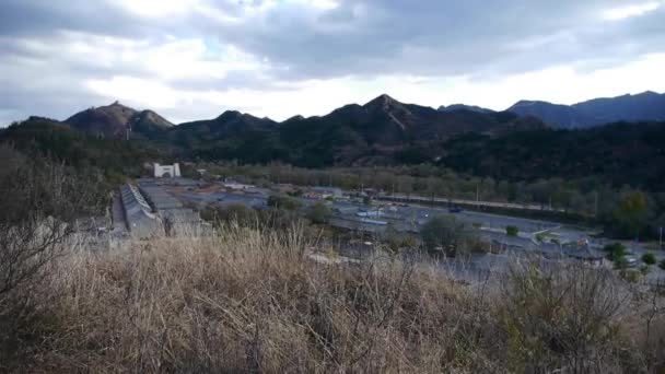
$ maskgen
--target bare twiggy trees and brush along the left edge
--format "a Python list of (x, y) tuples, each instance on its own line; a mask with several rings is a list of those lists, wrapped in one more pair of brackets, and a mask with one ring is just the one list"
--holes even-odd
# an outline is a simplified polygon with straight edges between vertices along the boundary
[(0, 145), (0, 328), (28, 306), (31, 284), (61, 254), (75, 220), (97, 210), (100, 180)]

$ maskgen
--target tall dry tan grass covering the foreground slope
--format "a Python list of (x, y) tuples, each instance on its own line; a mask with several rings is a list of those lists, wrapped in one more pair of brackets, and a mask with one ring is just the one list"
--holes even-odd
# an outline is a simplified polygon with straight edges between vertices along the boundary
[[(504, 288), (470, 288), (435, 267), (318, 265), (307, 259), (307, 245), (299, 229), (229, 227), (208, 238), (71, 250), (32, 290), (24, 354), (4, 369), (656, 372), (662, 359), (663, 341), (652, 343), (655, 353), (642, 353), (643, 318), (625, 301), (609, 314), (599, 311), (609, 305), (605, 299), (585, 301), (590, 291), (604, 292), (599, 283), (592, 290), (573, 277), (548, 283), (527, 271)], [(664, 323), (658, 315), (652, 326)], [(595, 335), (581, 339), (579, 326)]]

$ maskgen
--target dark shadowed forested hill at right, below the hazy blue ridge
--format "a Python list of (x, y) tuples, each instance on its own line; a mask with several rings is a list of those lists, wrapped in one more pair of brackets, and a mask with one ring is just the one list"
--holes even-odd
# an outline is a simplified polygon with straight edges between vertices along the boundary
[(538, 129), (442, 144), (440, 164), (497, 179), (595, 177), (616, 186), (665, 189), (665, 122), (620, 122), (586, 130)]

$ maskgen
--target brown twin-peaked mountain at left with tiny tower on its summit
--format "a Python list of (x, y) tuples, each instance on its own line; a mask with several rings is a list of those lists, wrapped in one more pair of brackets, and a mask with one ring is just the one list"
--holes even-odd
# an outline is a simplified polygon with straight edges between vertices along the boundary
[(105, 138), (153, 138), (173, 127), (152, 110), (138, 112), (119, 103), (90, 108), (65, 120), (77, 130)]

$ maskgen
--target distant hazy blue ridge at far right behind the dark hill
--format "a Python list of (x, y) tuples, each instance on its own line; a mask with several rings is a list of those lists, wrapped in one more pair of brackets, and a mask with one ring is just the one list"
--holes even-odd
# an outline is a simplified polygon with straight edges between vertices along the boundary
[(644, 92), (638, 95), (594, 98), (574, 105), (521, 101), (509, 112), (535, 116), (555, 128), (587, 128), (617, 121), (665, 120), (665, 94)]

